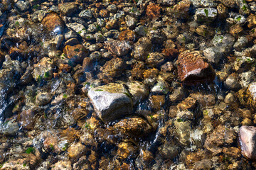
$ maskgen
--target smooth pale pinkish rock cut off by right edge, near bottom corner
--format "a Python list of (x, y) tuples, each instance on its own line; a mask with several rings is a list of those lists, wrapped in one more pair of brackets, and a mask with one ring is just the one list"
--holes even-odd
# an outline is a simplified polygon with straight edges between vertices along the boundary
[(239, 130), (239, 142), (242, 155), (248, 159), (256, 159), (256, 127), (242, 126)]

